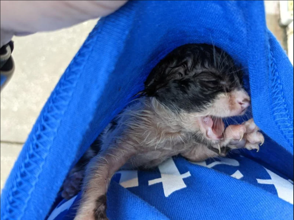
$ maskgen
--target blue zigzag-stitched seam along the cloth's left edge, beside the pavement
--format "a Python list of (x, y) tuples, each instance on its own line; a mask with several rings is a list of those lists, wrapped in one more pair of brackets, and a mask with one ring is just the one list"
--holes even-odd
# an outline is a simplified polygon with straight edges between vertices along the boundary
[[(48, 141), (48, 137), (46, 136), (46, 130), (47, 132), (54, 132), (57, 134), (57, 130), (60, 126), (60, 122), (64, 117), (64, 113), (66, 112), (68, 105), (71, 101), (72, 95), (74, 93), (74, 90), (76, 88), (78, 79), (81, 76), (82, 69), (84, 68), (84, 65), (75, 65), (75, 63), (86, 63), (86, 60), (89, 57), (88, 53), (83, 54), (83, 52), (87, 52), (88, 48), (91, 47), (92, 45), (93, 38), (88, 38), (88, 40), (85, 42), (83, 48), (84, 51), (79, 51), (77, 56), (74, 58), (74, 61), (71, 63), (69, 68), (66, 70), (64, 74), (64, 78), (61, 80), (60, 84), (57, 85), (57, 88), (54, 90), (54, 93), (52, 94), (52, 97), (48, 100), (48, 107), (44, 109), (44, 112), (41, 113), (41, 118), (40, 122), (36, 124), (37, 130), (35, 135), (31, 137), (33, 142), (30, 144), (30, 151), (26, 155), (26, 159), (24, 163), (22, 164), (22, 167), (17, 174), (17, 181), (16, 184), (19, 185), (21, 184), (23, 187), (29, 188), (28, 190), (21, 191), (20, 187), (17, 187), (16, 184), (12, 187), (10, 190), (11, 193), (9, 195), (9, 204), (6, 207), (6, 213), (3, 216), (3, 220), (8, 220), (9, 217), (14, 217), (15, 219), (21, 219), (22, 216), (24, 215), (24, 212), (26, 210), (26, 204), (28, 203), (31, 193), (34, 191), (34, 186), (38, 182), (38, 177), (42, 172), (42, 166), (46, 160), (46, 157), (49, 153), (49, 150), (51, 148), (52, 142), (54, 142), (54, 139), (56, 135), (51, 139), (50, 141), (47, 142), (46, 145), (42, 144), (44, 140)], [(85, 50), (86, 49), (86, 50)], [(72, 66), (78, 66), (79, 68), (76, 68), (75, 70), (72, 70)], [(61, 94), (65, 94), (67, 97), (64, 97)], [(63, 106), (62, 106), (63, 105)], [(58, 109), (56, 108), (58, 107)], [(63, 108), (63, 110), (60, 110), (60, 108)], [(53, 110), (52, 110), (53, 109)], [(56, 119), (56, 112), (59, 113), (59, 117)], [(48, 117), (49, 120), (45, 120), (45, 118)], [(52, 123), (54, 124), (52, 126)], [(45, 129), (44, 129), (45, 128)], [(38, 146), (37, 149), (35, 149), (34, 146)], [(40, 150), (39, 150), (40, 148)], [(41, 152), (40, 152), (41, 151)], [(42, 153), (43, 155), (39, 155)], [(33, 163), (31, 162), (31, 157), (36, 156), (38, 157), (41, 161), (38, 163), (34, 163), (35, 167), (31, 168)], [(31, 168), (31, 169), (30, 169)], [(37, 171), (37, 172), (36, 172)], [(33, 174), (34, 173), (34, 174)], [(34, 181), (27, 181), (25, 178), (35, 178)], [(29, 187), (28, 187), (29, 185)], [(23, 197), (23, 198), (21, 198)], [(11, 204), (12, 203), (18, 203), (22, 204), (22, 210), (20, 210), (20, 206), (17, 206), (17, 209), (14, 208)], [(16, 209), (16, 210), (15, 210)], [(15, 216), (14, 212), (18, 213), (17, 216)], [(20, 213), (19, 213), (20, 212)]]

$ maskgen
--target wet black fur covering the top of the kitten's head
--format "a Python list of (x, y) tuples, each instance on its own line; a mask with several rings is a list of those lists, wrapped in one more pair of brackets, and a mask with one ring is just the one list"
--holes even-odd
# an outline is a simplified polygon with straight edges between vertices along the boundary
[(225, 51), (208, 44), (186, 44), (153, 68), (143, 94), (177, 112), (201, 112), (219, 93), (242, 84), (240, 66)]

